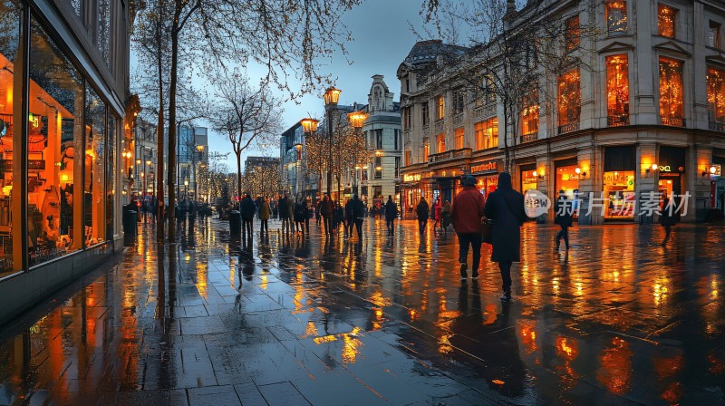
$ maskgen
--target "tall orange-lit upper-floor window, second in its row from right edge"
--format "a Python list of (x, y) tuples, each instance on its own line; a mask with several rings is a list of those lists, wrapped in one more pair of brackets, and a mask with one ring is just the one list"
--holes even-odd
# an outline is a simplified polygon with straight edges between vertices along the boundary
[(682, 63), (665, 57), (660, 57), (660, 116), (662, 125), (685, 125)]

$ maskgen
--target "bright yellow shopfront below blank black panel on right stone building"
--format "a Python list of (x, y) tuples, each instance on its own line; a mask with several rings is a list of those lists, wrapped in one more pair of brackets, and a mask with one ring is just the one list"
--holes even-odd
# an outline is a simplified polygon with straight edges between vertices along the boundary
[(605, 220), (634, 218), (636, 165), (636, 149), (633, 145), (604, 149)]

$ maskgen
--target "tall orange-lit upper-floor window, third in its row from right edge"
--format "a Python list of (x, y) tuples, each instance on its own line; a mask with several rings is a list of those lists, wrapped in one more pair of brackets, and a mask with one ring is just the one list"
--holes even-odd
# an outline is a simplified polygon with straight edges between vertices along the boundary
[(608, 125), (629, 124), (629, 77), (627, 55), (606, 57), (606, 111)]

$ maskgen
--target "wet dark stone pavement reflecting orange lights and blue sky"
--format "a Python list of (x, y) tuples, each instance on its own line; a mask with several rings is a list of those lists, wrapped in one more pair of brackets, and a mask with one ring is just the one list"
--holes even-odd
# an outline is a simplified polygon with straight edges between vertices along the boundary
[[(119, 256), (0, 331), (0, 404), (725, 403), (723, 225), (527, 224), (498, 268), (412, 220), (362, 240), (229, 238), (216, 219)], [(258, 225), (256, 225), (258, 227)], [(258, 228), (257, 228), (258, 229)]]

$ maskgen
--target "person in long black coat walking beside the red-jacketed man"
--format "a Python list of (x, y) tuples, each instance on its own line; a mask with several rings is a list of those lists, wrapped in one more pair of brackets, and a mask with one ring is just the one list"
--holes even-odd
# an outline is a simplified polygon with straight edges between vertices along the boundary
[(491, 227), (491, 262), (498, 262), (504, 294), (501, 300), (511, 300), (511, 264), (521, 260), (521, 226), (527, 218), (524, 195), (511, 186), (511, 174), (498, 174), (498, 189), (488, 195), (486, 217)]

